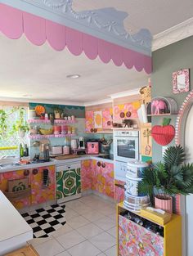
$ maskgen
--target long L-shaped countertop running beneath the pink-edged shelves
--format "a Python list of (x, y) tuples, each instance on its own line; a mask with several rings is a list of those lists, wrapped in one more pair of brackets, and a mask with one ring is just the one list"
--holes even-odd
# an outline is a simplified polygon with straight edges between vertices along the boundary
[(65, 163), (69, 164), (71, 162), (83, 161), (86, 159), (95, 159), (96, 161), (114, 164), (114, 160), (105, 159), (105, 158), (101, 158), (98, 156), (99, 155), (79, 155), (79, 157), (76, 157), (76, 158), (61, 159), (61, 160), (52, 159), (50, 162), (45, 162), (45, 163), (21, 164), (21, 165), (17, 165), (17, 166), (9, 166), (9, 167), (5, 167), (5, 168), (0, 168), (0, 173), (24, 170), (24, 169), (29, 169), (29, 168), (39, 168), (39, 167), (44, 167), (44, 166), (56, 165), (56, 164), (65, 164)]

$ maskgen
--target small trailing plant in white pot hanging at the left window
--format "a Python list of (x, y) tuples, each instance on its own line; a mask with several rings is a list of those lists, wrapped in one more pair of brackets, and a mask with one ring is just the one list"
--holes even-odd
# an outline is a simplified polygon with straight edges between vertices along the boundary
[(18, 132), (19, 137), (25, 137), (25, 132), (29, 132), (29, 124), (25, 120), (25, 109), (19, 109), (19, 119), (12, 126), (11, 133)]

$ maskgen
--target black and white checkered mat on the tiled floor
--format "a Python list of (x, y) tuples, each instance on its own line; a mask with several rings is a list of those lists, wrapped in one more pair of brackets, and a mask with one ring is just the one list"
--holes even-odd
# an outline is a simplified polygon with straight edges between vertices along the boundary
[(32, 227), (34, 238), (51, 236), (54, 231), (65, 225), (65, 205), (53, 204), (21, 215)]

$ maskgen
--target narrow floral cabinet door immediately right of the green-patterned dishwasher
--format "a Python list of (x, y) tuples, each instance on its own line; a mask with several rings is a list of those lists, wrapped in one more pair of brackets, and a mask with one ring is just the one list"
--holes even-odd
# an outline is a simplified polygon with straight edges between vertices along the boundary
[(83, 160), (81, 162), (81, 187), (82, 191), (88, 191), (92, 189), (92, 170), (91, 170), (92, 160)]

